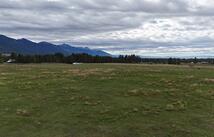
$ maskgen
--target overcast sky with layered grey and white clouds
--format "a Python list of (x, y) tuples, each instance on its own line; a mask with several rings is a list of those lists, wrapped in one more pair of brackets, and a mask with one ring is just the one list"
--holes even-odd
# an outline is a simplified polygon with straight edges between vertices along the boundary
[(214, 56), (214, 0), (1, 0), (0, 34), (113, 55)]

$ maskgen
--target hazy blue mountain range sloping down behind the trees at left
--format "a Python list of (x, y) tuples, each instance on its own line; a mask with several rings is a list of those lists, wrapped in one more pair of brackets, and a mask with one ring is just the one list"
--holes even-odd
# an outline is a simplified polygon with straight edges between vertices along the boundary
[(26, 55), (44, 55), (63, 53), (64, 55), (86, 53), (89, 55), (111, 56), (110, 54), (89, 48), (73, 47), (68, 44), (55, 45), (48, 42), (35, 43), (28, 39), (13, 39), (0, 35), (0, 53), (17, 53)]

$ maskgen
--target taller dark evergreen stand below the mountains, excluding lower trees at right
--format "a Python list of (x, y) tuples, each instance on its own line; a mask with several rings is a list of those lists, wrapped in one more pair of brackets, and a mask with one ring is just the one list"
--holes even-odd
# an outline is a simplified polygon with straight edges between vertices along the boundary
[[(7, 60), (14, 60), (14, 63), (140, 63), (141, 58), (136, 55), (125, 55), (119, 57), (92, 56), (88, 54), (72, 54), (64, 56), (61, 53), (53, 55), (22, 55), (12, 53)], [(4, 59), (5, 60), (5, 59)]]

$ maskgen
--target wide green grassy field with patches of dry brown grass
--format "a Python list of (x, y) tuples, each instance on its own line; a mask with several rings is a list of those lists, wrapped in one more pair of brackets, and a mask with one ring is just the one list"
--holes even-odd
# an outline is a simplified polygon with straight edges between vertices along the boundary
[(0, 65), (0, 137), (214, 137), (214, 67)]

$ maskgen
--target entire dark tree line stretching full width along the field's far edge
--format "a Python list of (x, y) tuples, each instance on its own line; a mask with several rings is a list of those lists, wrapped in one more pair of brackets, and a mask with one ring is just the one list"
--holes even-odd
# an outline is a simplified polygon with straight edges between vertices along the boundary
[(22, 55), (12, 53), (10, 56), (0, 54), (0, 63), (13, 60), (14, 63), (147, 63), (147, 64), (181, 64), (181, 63), (204, 63), (214, 64), (214, 59), (181, 59), (181, 58), (141, 58), (136, 55), (91, 56), (88, 54), (72, 54), (64, 56), (61, 53), (53, 55)]

